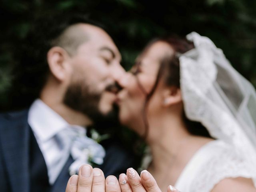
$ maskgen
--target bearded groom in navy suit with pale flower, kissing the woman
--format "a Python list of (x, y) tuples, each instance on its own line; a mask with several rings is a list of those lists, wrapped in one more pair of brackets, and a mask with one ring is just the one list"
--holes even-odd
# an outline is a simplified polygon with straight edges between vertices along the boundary
[(86, 127), (114, 116), (116, 81), (124, 74), (110, 36), (82, 18), (44, 18), (21, 51), (22, 67), (36, 66), (43, 78), (30, 108), (0, 114), (1, 191), (65, 191), (70, 166), (86, 163), (91, 150), (105, 176), (133, 166), (118, 142), (108, 141), (104, 151), (86, 137)]

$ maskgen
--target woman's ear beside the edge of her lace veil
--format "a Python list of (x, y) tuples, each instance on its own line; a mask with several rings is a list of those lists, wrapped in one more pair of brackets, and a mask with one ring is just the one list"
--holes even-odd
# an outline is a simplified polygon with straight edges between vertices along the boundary
[(182, 102), (182, 95), (180, 88), (177, 87), (170, 87), (166, 88), (163, 93), (163, 106), (164, 107), (169, 107), (174, 104), (178, 104)]

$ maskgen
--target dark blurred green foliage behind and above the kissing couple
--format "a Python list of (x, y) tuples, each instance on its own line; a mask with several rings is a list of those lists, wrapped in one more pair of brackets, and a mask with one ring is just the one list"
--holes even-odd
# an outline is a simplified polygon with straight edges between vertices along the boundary
[(26, 36), (32, 18), (45, 11), (80, 12), (104, 24), (126, 69), (152, 38), (196, 31), (211, 38), (232, 65), (256, 85), (255, 10), (253, 0), (1, 0), (0, 111), (31, 102), (22, 95), (19, 100), (12, 99), (11, 94), (28, 86), (12, 86), (12, 47)]

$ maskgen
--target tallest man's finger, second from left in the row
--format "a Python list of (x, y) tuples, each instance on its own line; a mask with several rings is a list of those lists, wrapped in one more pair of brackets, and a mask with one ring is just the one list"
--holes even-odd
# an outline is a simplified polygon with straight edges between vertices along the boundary
[(78, 172), (77, 192), (91, 192), (92, 190), (92, 166), (82, 165)]

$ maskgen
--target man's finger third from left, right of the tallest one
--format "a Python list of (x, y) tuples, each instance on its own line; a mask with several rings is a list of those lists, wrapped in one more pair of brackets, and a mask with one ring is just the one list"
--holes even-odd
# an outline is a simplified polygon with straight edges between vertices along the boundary
[(94, 168), (93, 180), (92, 180), (92, 192), (102, 192), (105, 191), (105, 177), (102, 170), (99, 168)]

